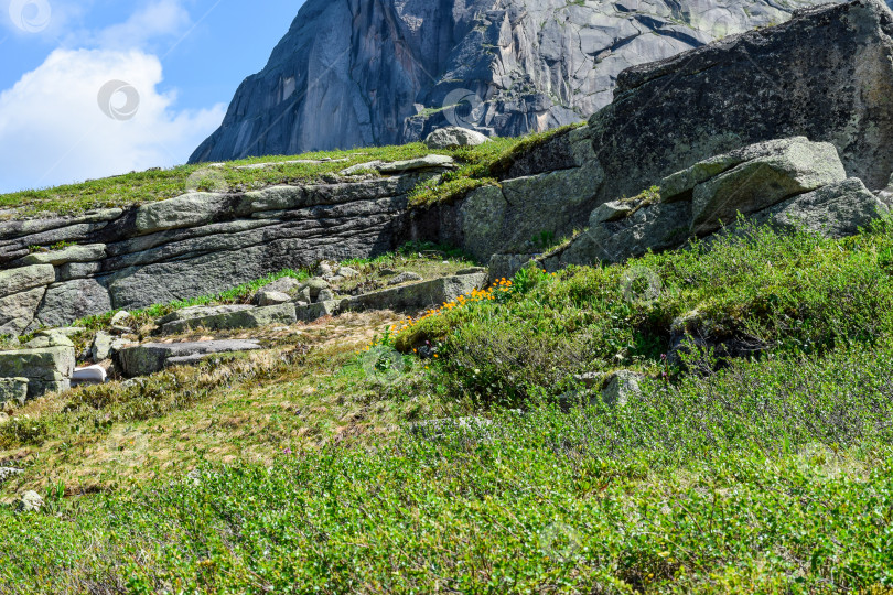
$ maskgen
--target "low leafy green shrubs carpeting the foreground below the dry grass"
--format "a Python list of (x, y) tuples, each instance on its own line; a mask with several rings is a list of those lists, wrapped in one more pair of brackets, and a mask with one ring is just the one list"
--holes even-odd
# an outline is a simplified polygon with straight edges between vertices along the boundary
[[(10, 593), (811, 593), (893, 583), (893, 344), (0, 509)], [(429, 422), (430, 423), (430, 422)]]

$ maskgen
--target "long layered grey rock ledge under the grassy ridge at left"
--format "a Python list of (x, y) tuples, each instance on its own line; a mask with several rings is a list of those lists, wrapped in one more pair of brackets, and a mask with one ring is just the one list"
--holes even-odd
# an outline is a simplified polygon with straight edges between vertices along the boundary
[[(407, 194), (440, 171), (428, 161), (397, 166), (407, 167), (375, 180), (191, 193), (127, 210), (0, 223), (0, 335), (394, 250), (412, 236)], [(104, 248), (45, 252), (55, 256), (29, 264), (44, 255), (32, 247), (60, 241)], [(269, 289), (291, 291), (294, 280), (286, 279)]]

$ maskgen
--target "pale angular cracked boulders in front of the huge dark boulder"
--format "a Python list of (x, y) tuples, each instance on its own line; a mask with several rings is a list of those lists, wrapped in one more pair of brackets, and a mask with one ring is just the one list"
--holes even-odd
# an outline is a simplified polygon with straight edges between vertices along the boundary
[(839, 238), (890, 212), (861, 180), (846, 177), (833, 145), (803, 137), (718, 155), (660, 184), (657, 202), (648, 196), (594, 209), (589, 229), (542, 258), (542, 266), (616, 262), (676, 248), (690, 237), (736, 225), (739, 214), (778, 229), (806, 228)]

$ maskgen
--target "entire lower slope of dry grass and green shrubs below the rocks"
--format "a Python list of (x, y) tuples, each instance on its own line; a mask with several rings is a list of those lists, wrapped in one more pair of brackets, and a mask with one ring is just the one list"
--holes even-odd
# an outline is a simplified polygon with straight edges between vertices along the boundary
[[(889, 221), (745, 228), (32, 403), (3, 489), (50, 506), (0, 508), (0, 585), (887, 592), (891, 273)], [(573, 380), (621, 368), (647, 375), (625, 407)]]

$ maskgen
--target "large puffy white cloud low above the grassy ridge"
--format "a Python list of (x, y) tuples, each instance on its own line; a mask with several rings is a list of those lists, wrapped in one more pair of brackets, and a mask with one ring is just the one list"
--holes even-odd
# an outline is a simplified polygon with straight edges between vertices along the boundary
[[(98, 105), (99, 89), (116, 79), (139, 94), (132, 119), (109, 118)], [(184, 163), (225, 106), (177, 111), (161, 80), (159, 58), (139, 50), (54, 51), (0, 93), (0, 192)], [(123, 100), (118, 94), (112, 105)]]

